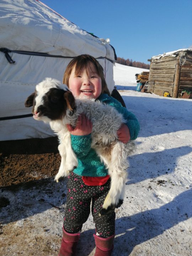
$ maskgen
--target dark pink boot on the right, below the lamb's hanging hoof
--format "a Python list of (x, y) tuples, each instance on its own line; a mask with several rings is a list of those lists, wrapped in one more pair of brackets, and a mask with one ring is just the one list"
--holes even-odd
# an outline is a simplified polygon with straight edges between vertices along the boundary
[(111, 256), (114, 236), (115, 235), (112, 235), (109, 238), (102, 238), (94, 234), (96, 244), (95, 256)]

